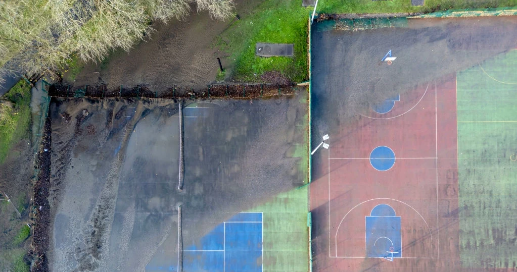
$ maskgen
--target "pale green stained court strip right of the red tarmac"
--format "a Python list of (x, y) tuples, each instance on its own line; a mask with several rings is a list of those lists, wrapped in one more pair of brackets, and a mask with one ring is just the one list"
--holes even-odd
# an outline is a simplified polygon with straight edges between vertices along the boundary
[(517, 50), (461, 71), (460, 253), (464, 266), (515, 267)]

